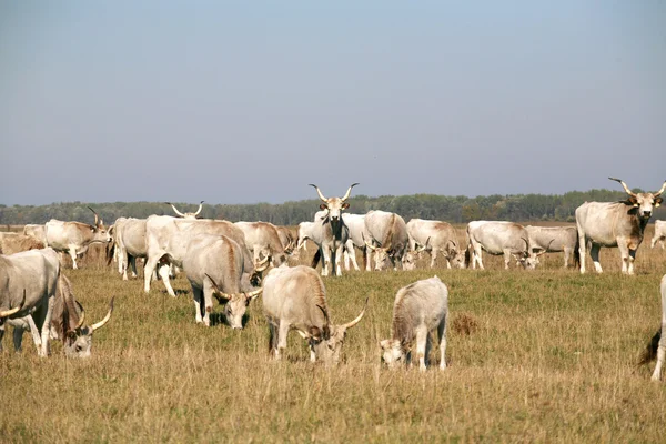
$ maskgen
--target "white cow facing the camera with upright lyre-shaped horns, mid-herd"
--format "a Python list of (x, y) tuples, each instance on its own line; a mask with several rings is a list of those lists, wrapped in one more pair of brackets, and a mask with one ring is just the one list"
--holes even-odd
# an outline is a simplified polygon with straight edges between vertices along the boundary
[(322, 219), (321, 222), (315, 218), (315, 226), (313, 229), (314, 232), (321, 234), (321, 236), (317, 235), (317, 238), (322, 240), (322, 243), (319, 244), (319, 248), (324, 258), (324, 266), (322, 266), (323, 276), (329, 275), (329, 265), (332, 266), (332, 274), (337, 276), (342, 275), (340, 261), (342, 259), (344, 245), (349, 240), (349, 229), (342, 219), (342, 212), (350, 208), (350, 204), (346, 202), (346, 200), (352, 193), (352, 188), (356, 185), (357, 183), (353, 183), (342, 198), (326, 199), (319, 186), (312, 183), (310, 184), (310, 186), (313, 186), (316, 190), (316, 193), (323, 202), (320, 205), (320, 210), (325, 211), (324, 219)]

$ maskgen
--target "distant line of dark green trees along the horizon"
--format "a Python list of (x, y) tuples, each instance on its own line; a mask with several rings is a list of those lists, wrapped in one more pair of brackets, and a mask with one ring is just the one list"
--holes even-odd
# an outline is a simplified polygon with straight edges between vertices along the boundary
[[(638, 192), (639, 190), (636, 190)], [(473, 220), (503, 221), (556, 221), (574, 222), (574, 211), (585, 201), (615, 202), (626, 198), (622, 191), (591, 190), (556, 194), (516, 194), (467, 198), (435, 194), (382, 195), (369, 198), (355, 195), (349, 200), (350, 213), (364, 214), (370, 210), (384, 210), (402, 215), (405, 221), (412, 218), (434, 219), (451, 223), (466, 223)], [(284, 202), (280, 204), (216, 204), (203, 205), (202, 218), (226, 219), (229, 221), (266, 221), (278, 225), (295, 225), (312, 220), (319, 210), (319, 200)], [(195, 211), (199, 205), (174, 202), (182, 211)], [(0, 224), (44, 223), (50, 219), (92, 223), (94, 216), (87, 209), (93, 208), (107, 224), (120, 216), (148, 218), (151, 214), (174, 215), (171, 206), (162, 202), (61, 202), (50, 205), (0, 204)], [(666, 206), (666, 205), (665, 205)], [(652, 220), (666, 219), (665, 208), (656, 209)]]

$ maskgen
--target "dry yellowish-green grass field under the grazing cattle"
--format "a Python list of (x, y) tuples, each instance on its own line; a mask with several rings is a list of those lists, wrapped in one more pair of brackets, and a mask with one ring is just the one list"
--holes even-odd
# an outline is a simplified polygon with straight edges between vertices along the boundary
[[(0, 441), (663, 443), (666, 386), (649, 381), (654, 363), (636, 365), (659, 325), (666, 273), (666, 251), (649, 240), (630, 278), (613, 249), (602, 275), (562, 270), (552, 254), (535, 272), (485, 255), (485, 271), (440, 263), (325, 279), (333, 322), (370, 295), (333, 369), (311, 364), (293, 332), (285, 359), (269, 360), (261, 297), (243, 331), (206, 329), (184, 276), (171, 299), (161, 283), (144, 294), (142, 281), (89, 262), (64, 273), (89, 320), (115, 295), (113, 317), (89, 360), (64, 359), (56, 342), (38, 359), (29, 334), (16, 354), (6, 335)], [(382, 369), (395, 292), (435, 273), (450, 289), (448, 369)]]

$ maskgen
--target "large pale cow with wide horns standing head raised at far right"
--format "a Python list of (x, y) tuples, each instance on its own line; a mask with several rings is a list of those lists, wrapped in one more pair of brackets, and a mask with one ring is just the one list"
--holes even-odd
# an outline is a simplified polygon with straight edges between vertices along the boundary
[(655, 193), (634, 193), (619, 179), (628, 199), (620, 202), (585, 202), (576, 209), (581, 273), (585, 273), (585, 249), (592, 243), (589, 255), (597, 273), (602, 273), (599, 250), (602, 246), (617, 246), (622, 258), (622, 272), (634, 274), (636, 251), (643, 242), (643, 233), (653, 209), (662, 204), (660, 194), (666, 190), (666, 181)]

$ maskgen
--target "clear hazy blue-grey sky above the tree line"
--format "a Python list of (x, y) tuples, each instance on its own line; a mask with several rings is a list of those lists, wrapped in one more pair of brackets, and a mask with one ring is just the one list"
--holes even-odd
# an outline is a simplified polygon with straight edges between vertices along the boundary
[(666, 2), (0, 3), (0, 203), (666, 179)]

